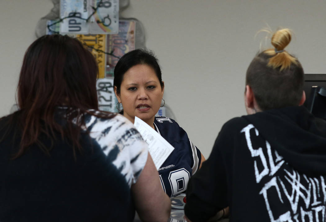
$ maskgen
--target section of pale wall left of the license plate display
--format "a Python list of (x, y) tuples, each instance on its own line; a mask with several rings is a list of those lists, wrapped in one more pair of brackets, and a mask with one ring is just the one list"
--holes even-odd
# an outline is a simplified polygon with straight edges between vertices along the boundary
[(50, 0), (0, 0), (0, 117), (15, 104), (24, 53), (36, 39), (37, 21), (52, 6)]

